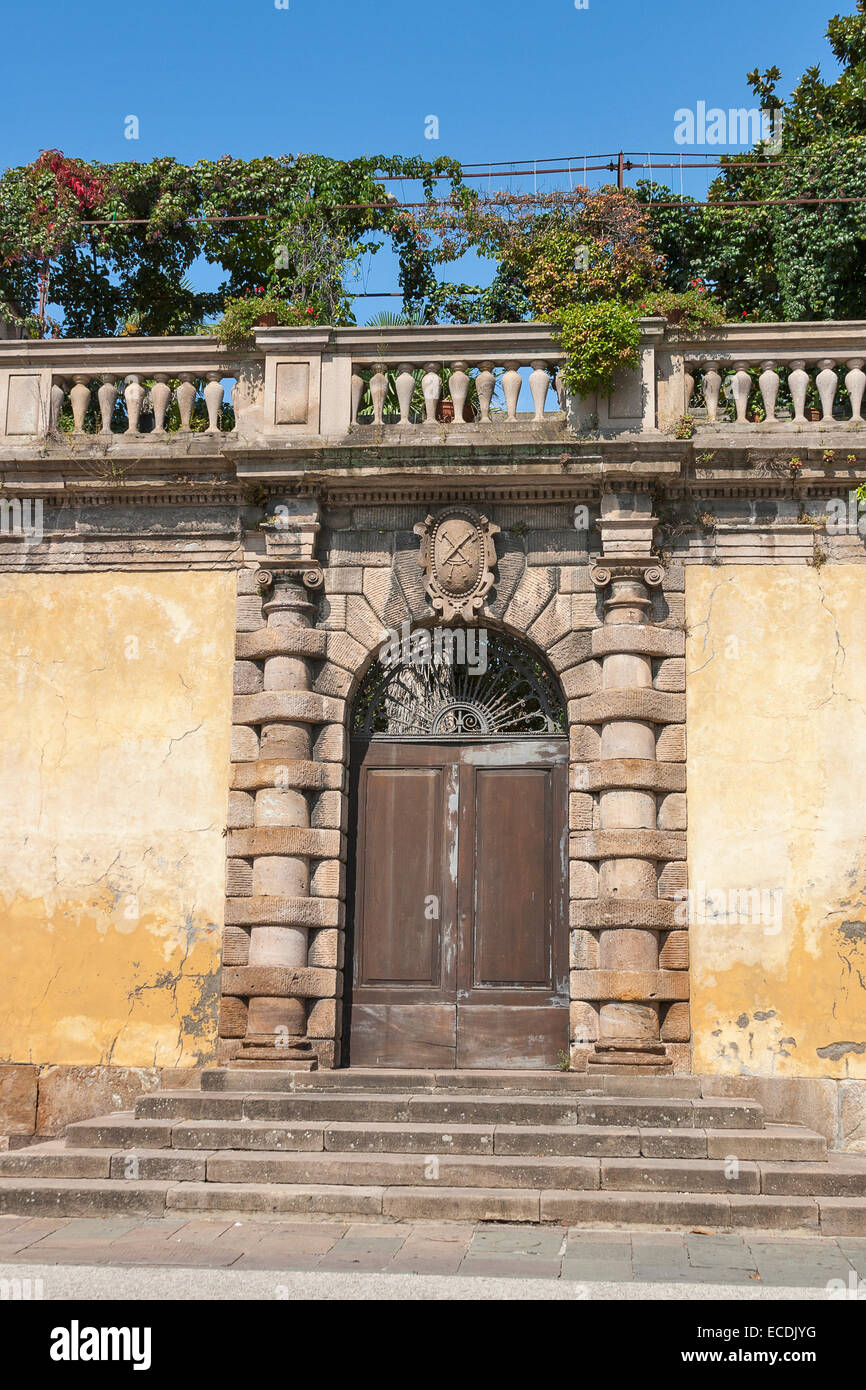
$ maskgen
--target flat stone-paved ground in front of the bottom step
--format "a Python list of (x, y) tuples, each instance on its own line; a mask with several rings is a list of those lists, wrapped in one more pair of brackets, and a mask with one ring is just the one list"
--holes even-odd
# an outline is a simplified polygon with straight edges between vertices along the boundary
[[(866, 1238), (496, 1223), (0, 1216), (0, 1266), (158, 1266), (816, 1290), (866, 1301)], [(830, 1284), (831, 1280), (841, 1283)], [(830, 1286), (830, 1290), (828, 1290)], [(844, 1294), (842, 1294), (844, 1290)], [(748, 1294), (746, 1294), (748, 1295)]]

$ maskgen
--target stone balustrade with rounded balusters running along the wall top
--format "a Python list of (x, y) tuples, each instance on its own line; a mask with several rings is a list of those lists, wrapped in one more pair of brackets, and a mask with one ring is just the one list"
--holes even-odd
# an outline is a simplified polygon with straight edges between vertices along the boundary
[[(573, 399), (546, 324), (257, 328), (215, 339), (0, 341), (0, 448), (88, 436), (122, 452), (202, 435), (242, 445), (471, 446), (537, 436), (698, 428), (859, 428), (866, 324), (733, 324), (687, 334), (641, 321), (639, 361)], [(231, 409), (228, 384), (231, 388)], [(681, 436), (681, 435), (680, 435)], [(209, 445), (210, 441), (210, 445)]]

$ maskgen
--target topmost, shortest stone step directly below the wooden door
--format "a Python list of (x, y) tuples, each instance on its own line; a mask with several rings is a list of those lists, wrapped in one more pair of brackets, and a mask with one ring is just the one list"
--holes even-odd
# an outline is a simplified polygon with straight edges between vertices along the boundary
[(646, 1095), (699, 1099), (703, 1086), (698, 1076), (588, 1076), (585, 1072), (431, 1072), (385, 1068), (346, 1068), (334, 1072), (229, 1070), (202, 1074), (206, 1093), (250, 1091), (363, 1091), (368, 1095), (414, 1093), (461, 1093), (506, 1095)]

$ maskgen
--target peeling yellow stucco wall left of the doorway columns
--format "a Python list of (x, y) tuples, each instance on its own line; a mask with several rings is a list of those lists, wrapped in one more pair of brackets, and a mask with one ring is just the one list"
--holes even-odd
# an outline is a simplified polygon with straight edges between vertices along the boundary
[(0, 1061), (213, 1058), (234, 595), (0, 577)]

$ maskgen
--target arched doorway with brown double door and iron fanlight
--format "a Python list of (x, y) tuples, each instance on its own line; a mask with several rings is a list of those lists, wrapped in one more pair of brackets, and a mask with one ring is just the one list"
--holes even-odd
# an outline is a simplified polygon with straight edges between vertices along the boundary
[(416, 631), (357, 692), (354, 1066), (555, 1068), (567, 1052), (566, 712), (539, 656), (492, 630), (481, 655), (481, 631)]

